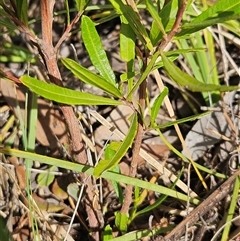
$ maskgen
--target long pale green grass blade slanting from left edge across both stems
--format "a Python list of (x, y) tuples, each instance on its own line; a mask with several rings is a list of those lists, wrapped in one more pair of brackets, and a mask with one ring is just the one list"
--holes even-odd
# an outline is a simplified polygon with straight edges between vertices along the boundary
[[(72, 171), (75, 171), (75, 172), (85, 172), (88, 175), (93, 175), (93, 172), (94, 172), (94, 168), (90, 167), (90, 166), (82, 165), (82, 164), (79, 164), (79, 163), (73, 163), (73, 162), (69, 162), (69, 161), (64, 161), (64, 160), (60, 160), (60, 159), (57, 159), (57, 158), (39, 155), (39, 154), (31, 153), (31, 152), (20, 151), (20, 150), (17, 150), (17, 149), (0, 147), (0, 152), (5, 154), (5, 155), (31, 159), (31, 160), (34, 160), (34, 161), (38, 161), (40, 163), (45, 163), (45, 164), (48, 164), (48, 165), (54, 165), (54, 166), (64, 168), (64, 169), (67, 169), (67, 170), (72, 170)], [(166, 188), (164, 186), (149, 183), (149, 182), (146, 182), (146, 181), (139, 180), (137, 178), (128, 177), (128, 176), (118, 174), (118, 173), (114, 173), (114, 172), (111, 172), (111, 171), (103, 172), (101, 177), (109, 179), (109, 180), (113, 180), (113, 181), (116, 181), (116, 182), (120, 182), (120, 183), (131, 184), (133, 186), (138, 186), (138, 187), (143, 188), (143, 189), (152, 190), (154, 192), (158, 192), (158, 193), (161, 193), (161, 194), (166, 194), (170, 197), (175, 197), (178, 200), (183, 200), (183, 201), (189, 200), (189, 197), (187, 195), (182, 194), (182, 193), (177, 192), (177, 191), (174, 191), (174, 190), (171, 190), (171, 189)], [(200, 201), (196, 198), (190, 198), (190, 202), (193, 203), (193, 204), (196, 204), (196, 205), (198, 205), (200, 203)]]

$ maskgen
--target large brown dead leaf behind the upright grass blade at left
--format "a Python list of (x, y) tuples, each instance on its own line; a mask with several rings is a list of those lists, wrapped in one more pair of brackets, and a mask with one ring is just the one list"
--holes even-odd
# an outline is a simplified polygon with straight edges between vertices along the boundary
[[(9, 107), (19, 119), (21, 115), (25, 117), (25, 93), (28, 91), (24, 86), (17, 86), (13, 82), (0, 79), (1, 92)], [(30, 95), (31, 96), (31, 95)], [(36, 126), (36, 138), (43, 145), (51, 150), (55, 150), (61, 143), (69, 146), (67, 128), (63, 116), (57, 109), (43, 99), (38, 98), (38, 121)], [(31, 101), (29, 101), (31, 103)], [(17, 111), (19, 104), (21, 113)], [(30, 104), (28, 105), (29, 108)]]

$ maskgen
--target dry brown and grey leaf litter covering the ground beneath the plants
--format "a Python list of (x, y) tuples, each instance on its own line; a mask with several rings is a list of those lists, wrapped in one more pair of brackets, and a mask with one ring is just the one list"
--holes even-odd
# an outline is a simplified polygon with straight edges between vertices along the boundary
[[(114, 34), (115, 35), (117, 34), (117, 31), (115, 29), (112, 32), (110, 31), (110, 33), (108, 33), (107, 38), (111, 39), (111, 36), (112, 35), (114, 36)], [(114, 56), (115, 52), (119, 51), (119, 49), (114, 45), (114, 42), (112, 46), (111, 45), (109, 46), (109, 41), (106, 41), (106, 44), (108, 44), (108, 47), (111, 48), (109, 52), (110, 54), (112, 53), (112, 56)], [(80, 51), (79, 56), (84, 55), (83, 50), (78, 49), (78, 51)], [(120, 64), (124, 66), (122, 63)], [(113, 66), (113, 68), (116, 69), (118, 73), (121, 73), (122, 70), (121, 68), (119, 69), (119, 66), (120, 66), (119, 64), (116, 64), (116, 66)], [(154, 82), (152, 82), (151, 84), (152, 84), (152, 88), (150, 89), (150, 92), (154, 92), (154, 87), (155, 87), (154, 85), (156, 84)], [(78, 83), (75, 83), (75, 85), (76, 85), (76, 88), (78, 88)], [(3, 83), (3, 81), (1, 80), (1, 94), (4, 96), (7, 104), (10, 106), (10, 109), (14, 112), (16, 117), (18, 117), (18, 113), (15, 107), (15, 102), (17, 99), (21, 106), (21, 110), (23, 113), (22, 115), (24, 116), (23, 110), (24, 110), (25, 97), (20, 90), (17, 90), (17, 92), (15, 92), (13, 86), (9, 86), (6, 84), (5, 81)], [(171, 92), (171, 94), (174, 95), (174, 92)], [(235, 94), (234, 92), (231, 92), (225, 95), (224, 102), (226, 103), (227, 106), (231, 106), (231, 101), (234, 99), (234, 94)], [(39, 102), (39, 119), (37, 123), (36, 138), (38, 142), (37, 143), (38, 148), (39, 148), (39, 144), (43, 146), (38, 150), (40, 150), (40, 152), (43, 152), (43, 153), (49, 153), (45, 148), (50, 150), (54, 149), (54, 150), (57, 150), (56, 152), (57, 156), (60, 157), (62, 155), (62, 150), (59, 150), (61, 149), (59, 147), (69, 146), (69, 137), (67, 134), (65, 122), (62, 118), (61, 113), (59, 113), (58, 110), (53, 108), (53, 106), (51, 106), (49, 102), (43, 101), (42, 99), (39, 99), (38, 102)], [(221, 103), (219, 103), (218, 106), (221, 109), (228, 108), (228, 107), (223, 107)], [(107, 116), (107, 120), (110, 123), (114, 124), (115, 128), (117, 128), (119, 131), (126, 134), (129, 128), (128, 118), (131, 115), (131, 110), (125, 107), (123, 109), (121, 108), (122, 108), (121, 106), (112, 108), (110, 111), (110, 114)], [(104, 112), (102, 109), (98, 110), (99, 113), (101, 113), (101, 111)], [(228, 110), (227, 112), (229, 113)], [(83, 113), (83, 115), (84, 114), (85, 113)], [(230, 115), (231, 115), (231, 111), (230, 111)], [(2, 119), (6, 119), (6, 117), (1, 118), (1, 120)], [(97, 150), (97, 154), (99, 154), (101, 150), (104, 149), (104, 144), (106, 143), (106, 141), (120, 139), (119, 137), (114, 136), (114, 134), (108, 128), (106, 128), (103, 125), (100, 125), (97, 121), (95, 121), (93, 125), (97, 126), (96, 128), (94, 127), (93, 139), (100, 146)], [(91, 135), (89, 134), (90, 127), (85, 125), (84, 128), (86, 129), (87, 135), (91, 138)], [(234, 148), (236, 147), (232, 145), (232, 143), (229, 141), (222, 141), (222, 137), (223, 137), (222, 135), (232, 140), (231, 138), (232, 130), (229, 127), (228, 122), (226, 121), (226, 118), (222, 113), (222, 110), (219, 112), (212, 112), (211, 115), (201, 118), (191, 128), (190, 132), (187, 134), (185, 139), (193, 159), (195, 161), (200, 161), (200, 157), (203, 157), (206, 151), (211, 146), (216, 147), (217, 143), (223, 142), (221, 144), (226, 145), (226, 143), (230, 143), (229, 150), (225, 153), (225, 157), (223, 158), (223, 154), (221, 153), (219, 155), (220, 159), (222, 158), (221, 159), (222, 162), (224, 161), (226, 162), (226, 158), (229, 157), (229, 153), (233, 151)], [(177, 173), (180, 170), (180, 167), (184, 166), (184, 163), (182, 163), (179, 159), (177, 159), (174, 155), (172, 155), (172, 153), (169, 152), (169, 149), (166, 147), (165, 144), (163, 143), (153, 144), (153, 140), (155, 140), (154, 139), (155, 137), (156, 136), (152, 135), (151, 136), (152, 139), (148, 138), (147, 144), (142, 145), (142, 148), (144, 149), (145, 153), (151, 154), (152, 157), (157, 160), (156, 162), (158, 162), (159, 159), (162, 160), (166, 158), (167, 161), (166, 163), (164, 163), (164, 167), (166, 165), (168, 169)], [(21, 145), (20, 143), (21, 141), (20, 139), (18, 139), (18, 142), (15, 142), (15, 145), (20, 148), (20, 145)], [(171, 143), (174, 143), (174, 141), (172, 141)], [(226, 147), (224, 146), (224, 147), (221, 147), (220, 149), (226, 150)], [(56, 153), (52, 152), (51, 155), (56, 155)], [(185, 154), (185, 150), (183, 150), (183, 153)], [(129, 158), (131, 157), (131, 153), (129, 153), (128, 155), (129, 156), (125, 157), (123, 161), (120, 163), (120, 170), (122, 173), (125, 173), (125, 174), (129, 173), (129, 164), (130, 164)], [(28, 203), (26, 202), (26, 200), (25, 202), (23, 202), (24, 204), (20, 203), (21, 198), (23, 198), (24, 200), (24, 197), (26, 197), (23, 190), (26, 185), (24, 183), (26, 181), (26, 177), (25, 177), (25, 172), (23, 168), (23, 163), (21, 162), (21, 160), (20, 162), (16, 162), (10, 159), (6, 160), (4, 159), (3, 156), (2, 156), (1, 162), (4, 163), (4, 165), (0, 165), (0, 172), (1, 172), (1, 175), (0, 175), (0, 178), (1, 178), (0, 179), (1, 180), (0, 212), (1, 213), (0, 214), (2, 217), (5, 217), (5, 218), (8, 216), (8, 223), (7, 223), (8, 229), (11, 232), (14, 232), (14, 229), (15, 229), (15, 232), (16, 232), (14, 234), (15, 240), (29, 240), (29, 237), (31, 237), (31, 231), (27, 224), (28, 211), (26, 210), (27, 210)], [(148, 179), (149, 176), (150, 177), (153, 176), (156, 168), (152, 168), (151, 165), (148, 166), (147, 164), (144, 164), (144, 163), (145, 162), (143, 161), (143, 158), (139, 156), (139, 164), (140, 166), (141, 165), (143, 166), (143, 170), (139, 170), (138, 178)], [(202, 161), (202, 163), (204, 163), (204, 161)], [(8, 168), (9, 164), (12, 164), (11, 168)], [(12, 168), (13, 166), (15, 167), (15, 170), (13, 170)], [(6, 171), (6, 168), (8, 171)], [(40, 169), (44, 171), (46, 167), (41, 166)], [(72, 215), (72, 212), (75, 206), (75, 201), (73, 201), (73, 199), (75, 199), (79, 193), (79, 189), (77, 188), (79, 186), (79, 182), (75, 177), (74, 173), (73, 174), (64, 173), (62, 170), (55, 170), (55, 171), (56, 171), (54, 173), (55, 179), (49, 185), (48, 190), (45, 190), (45, 194), (41, 190), (41, 188), (38, 187), (36, 178), (32, 180), (32, 181), (35, 181), (34, 190), (37, 192), (33, 195), (33, 198), (36, 202), (36, 209), (40, 209), (42, 213), (42, 214), (38, 214), (39, 215), (38, 218), (39, 218), (39, 221), (40, 222), (42, 221), (43, 223), (42, 226), (40, 225), (40, 228), (42, 230), (45, 230), (43, 232), (45, 234), (44, 240), (58, 240), (56, 237), (67, 237), (67, 240), (79, 240), (79, 236), (81, 237), (81, 240), (86, 240), (86, 238), (84, 237), (83, 228), (80, 227), (81, 225), (79, 224), (83, 222), (82, 220), (80, 221), (80, 217), (76, 218), (72, 232), (68, 234), (68, 236), (66, 234), (66, 226), (68, 226), (68, 224), (70, 223), (70, 217)], [(59, 176), (58, 174), (56, 174), (57, 172)], [(71, 176), (70, 178), (69, 178), (69, 175)], [(199, 184), (195, 182), (194, 178), (195, 177), (193, 176), (191, 180), (192, 182), (191, 186), (195, 186), (195, 188), (192, 187), (193, 190), (197, 191), (197, 193), (204, 192), (204, 194), (206, 194), (204, 190), (202, 190), (201, 188), (198, 188)], [(23, 180), (21, 181), (21, 179)], [(187, 182), (186, 169), (181, 179), (185, 183)], [(172, 183), (169, 181), (169, 179), (164, 179), (164, 178), (160, 178), (158, 181), (160, 184), (165, 182), (166, 185), (171, 185)], [(213, 182), (214, 181), (216, 183), (218, 182), (218, 180), (213, 180)], [(76, 184), (76, 183), (77, 183), (77, 186), (74, 185), (75, 191), (68, 191), (72, 187), (72, 184)], [(214, 187), (214, 185), (212, 186)], [(154, 202), (156, 200), (157, 194), (152, 193), (151, 195), (149, 195), (148, 197), (149, 200), (143, 203), (143, 205)], [(112, 224), (114, 219), (113, 212), (116, 210), (119, 210), (120, 203), (119, 203), (118, 197), (114, 193), (112, 183), (106, 182), (106, 180), (103, 180), (103, 200), (104, 200), (103, 207), (107, 208), (106, 222), (109, 222)], [(9, 206), (7, 206), (7, 204), (9, 204)], [(168, 209), (167, 208), (164, 209), (164, 205), (167, 206)], [(166, 200), (164, 205), (154, 210), (153, 212), (154, 216), (161, 217), (160, 218), (161, 220), (163, 219), (164, 216), (167, 216), (167, 220), (165, 223), (166, 226), (168, 226), (169, 223), (172, 223), (172, 222), (176, 224), (179, 223), (178, 219), (181, 219), (181, 214), (176, 215), (174, 214), (174, 211), (176, 213), (180, 213), (180, 211), (183, 211), (184, 205), (172, 199), (170, 199), (169, 201)], [(185, 211), (185, 207), (184, 207), (184, 211)], [(21, 213), (23, 213), (22, 216), (21, 216)], [(85, 213), (82, 210), (78, 210), (78, 213), (83, 217), (85, 217), (84, 216)], [(13, 219), (13, 214), (17, 218)], [(223, 215), (224, 213), (221, 213), (221, 214)], [(137, 230), (140, 228), (149, 228), (149, 224), (147, 221), (148, 218), (149, 216), (147, 215), (141, 217), (141, 220), (139, 219), (136, 220), (136, 222), (131, 228), (133, 230)], [(156, 218), (152, 224), (153, 225), (160, 224), (161, 223), (160, 219)], [(219, 221), (218, 219), (216, 220)], [(55, 223), (51, 224), (51, 222), (53, 221)], [(81, 224), (83, 225), (84, 222)], [(53, 233), (51, 233), (52, 231), (56, 231), (55, 236), (53, 235)], [(51, 239), (49, 237), (53, 237), (53, 238)]]

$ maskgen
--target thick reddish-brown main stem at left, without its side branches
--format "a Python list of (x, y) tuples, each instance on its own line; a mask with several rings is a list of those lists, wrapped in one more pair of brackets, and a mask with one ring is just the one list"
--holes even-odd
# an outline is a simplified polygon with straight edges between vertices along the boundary
[[(41, 1), (41, 15), (42, 15), (42, 35), (43, 39), (40, 42), (40, 51), (43, 55), (46, 67), (48, 69), (50, 80), (57, 85), (62, 86), (62, 78), (57, 65), (57, 54), (52, 45), (52, 16), (53, 16), (53, 6), (55, 1)], [(81, 164), (87, 163), (87, 155), (85, 152), (85, 147), (83, 139), (80, 132), (80, 126), (78, 124), (78, 119), (74, 114), (71, 106), (61, 105), (60, 106), (65, 120), (67, 122), (69, 132), (72, 138), (72, 155)], [(89, 219), (89, 226), (91, 229), (98, 230), (99, 219), (102, 221), (102, 217), (97, 217), (95, 210), (92, 207), (91, 201), (93, 200), (93, 183), (91, 178), (87, 178), (87, 175), (80, 173), (82, 182), (86, 183), (86, 194), (85, 199), (86, 212)], [(100, 236), (98, 232), (92, 234), (95, 240), (99, 240)]]

